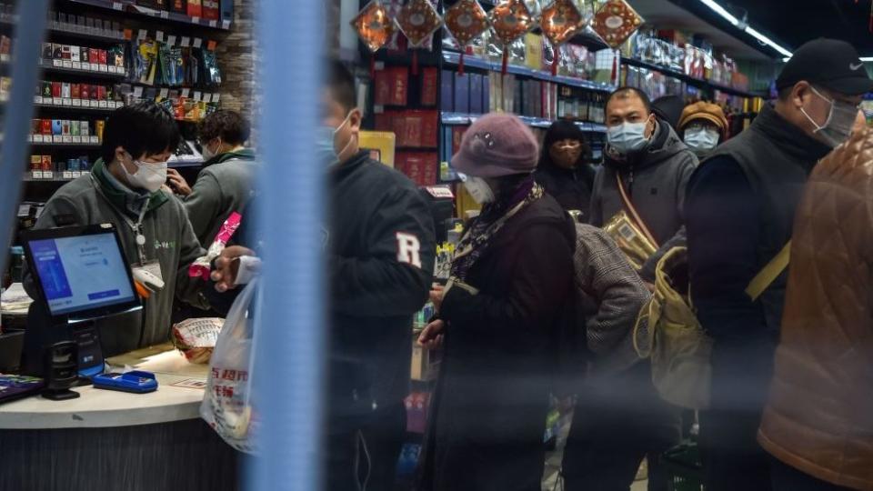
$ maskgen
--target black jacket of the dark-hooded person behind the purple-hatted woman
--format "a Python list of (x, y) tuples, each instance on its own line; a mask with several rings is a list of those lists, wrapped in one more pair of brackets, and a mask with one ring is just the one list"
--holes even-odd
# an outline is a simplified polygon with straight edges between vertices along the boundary
[(540, 164), (535, 174), (537, 183), (565, 210), (582, 212), (583, 222), (587, 222), (590, 216), (591, 190), (594, 188), (595, 175), (591, 165), (579, 164), (576, 168), (565, 169), (551, 161)]

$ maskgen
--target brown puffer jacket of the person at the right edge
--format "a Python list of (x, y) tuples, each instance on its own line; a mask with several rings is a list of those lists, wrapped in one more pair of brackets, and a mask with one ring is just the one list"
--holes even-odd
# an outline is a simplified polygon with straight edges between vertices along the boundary
[(804, 193), (758, 441), (808, 475), (873, 490), (873, 130), (828, 155)]

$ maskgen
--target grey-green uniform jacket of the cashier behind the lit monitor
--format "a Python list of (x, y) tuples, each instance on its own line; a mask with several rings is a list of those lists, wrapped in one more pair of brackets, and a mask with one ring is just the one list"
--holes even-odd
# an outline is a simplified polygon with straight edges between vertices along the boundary
[[(61, 186), (45, 204), (35, 229), (69, 225), (115, 225), (131, 265), (139, 263), (135, 232), (122, 216), (132, 223), (138, 218), (149, 196), (121, 185), (98, 160), (91, 175), (84, 175)], [(170, 339), (170, 315), (173, 299), (206, 308), (199, 290), (203, 284), (188, 276), (188, 266), (206, 251), (200, 247), (188, 222), (183, 205), (163, 191), (153, 193), (143, 218), (146, 236), (146, 260), (159, 260), (165, 287), (144, 300), (141, 313), (114, 316), (97, 322), (105, 356), (114, 356), (144, 346), (166, 343)], [(38, 296), (34, 279), (25, 278), (28, 294)]]

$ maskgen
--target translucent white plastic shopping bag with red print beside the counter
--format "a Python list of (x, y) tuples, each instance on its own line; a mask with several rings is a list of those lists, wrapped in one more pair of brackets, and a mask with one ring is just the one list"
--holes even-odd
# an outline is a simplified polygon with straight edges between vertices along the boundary
[(228, 445), (240, 452), (256, 453), (258, 420), (252, 401), (252, 367), (255, 364), (255, 313), (257, 281), (236, 297), (218, 335), (209, 364), (206, 395), (200, 416)]

